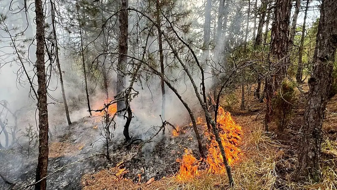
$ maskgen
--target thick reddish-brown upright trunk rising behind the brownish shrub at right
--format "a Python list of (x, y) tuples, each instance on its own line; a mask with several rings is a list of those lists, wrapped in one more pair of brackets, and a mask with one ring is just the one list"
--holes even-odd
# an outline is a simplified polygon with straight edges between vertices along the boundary
[(272, 41), (270, 54), (274, 62), (272, 66), (275, 90), (279, 89), (289, 64), (289, 23), (292, 0), (276, 0), (274, 19), (272, 26)]

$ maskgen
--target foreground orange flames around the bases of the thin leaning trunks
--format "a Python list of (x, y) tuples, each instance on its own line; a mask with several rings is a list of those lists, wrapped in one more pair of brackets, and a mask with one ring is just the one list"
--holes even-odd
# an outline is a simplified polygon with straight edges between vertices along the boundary
[[(203, 125), (204, 127), (206, 125), (201, 118), (197, 118), (197, 124)], [(217, 129), (226, 153), (228, 164), (233, 165), (240, 159), (242, 154), (240, 148), (237, 147), (243, 135), (241, 127), (235, 124), (229, 112), (225, 112), (222, 107), (219, 107)], [(205, 135), (208, 137), (209, 141), (209, 144), (207, 144), (208, 155), (205, 160), (208, 165), (206, 172), (216, 174), (225, 173), (226, 168), (223, 164), (223, 158), (218, 143), (216, 142), (214, 135), (208, 132), (206, 127)], [(197, 161), (187, 149), (185, 149), (183, 159), (177, 159), (177, 162), (180, 163), (180, 170), (176, 177), (178, 180), (188, 180), (197, 175), (197, 166), (200, 164), (200, 161)]]

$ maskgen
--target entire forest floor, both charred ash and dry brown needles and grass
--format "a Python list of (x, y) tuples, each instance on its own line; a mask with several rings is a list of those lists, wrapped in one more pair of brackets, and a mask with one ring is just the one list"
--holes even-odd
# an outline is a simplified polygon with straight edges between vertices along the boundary
[[(307, 86), (303, 87), (307, 90)], [(292, 113), (287, 128), (276, 132), (276, 123), (264, 132), (264, 103), (257, 102), (247, 93), (246, 108), (240, 109), (240, 91), (222, 96), (220, 104), (232, 113), (236, 124), (241, 126), (243, 138), (240, 160), (232, 165), (235, 189), (337, 189), (337, 97), (327, 106), (323, 131), (321, 167), (322, 180), (318, 184), (298, 184), (293, 181), (297, 163), (300, 128), (304, 115), (304, 95), (297, 92), (296, 111)], [(200, 115), (202, 116), (202, 114)], [(192, 129), (186, 125), (179, 136), (172, 130), (158, 136), (154, 142), (143, 146), (142, 155), (137, 145), (126, 148), (123, 136), (114, 137), (111, 161), (102, 155), (104, 147), (99, 141), (100, 121), (97, 117), (83, 118), (70, 127), (64, 126), (50, 143), (48, 189), (50, 190), (192, 190), (227, 189), (226, 173), (203, 172), (188, 181), (178, 181), (177, 158), (182, 158), (184, 148), (197, 153)], [(185, 122), (186, 123), (186, 122)], [(135, 119), (131, 126), (141, 128), (142, 121)], [(199, 126), (202, 130), (202, 126)], [(130, 134), (140, 130), (130, 128)], [(137, 138), (134, 137), (134, 138)], [(206, 139), (203, 139), (206, 140)], [(34, 182), (36, 151), (32, 155), (20, 148), (0, 152), (1, 173), (15, 183), (14, 187), (0, 182), (0, 189), (25, 189)], [(196, 154), (195, 154), (196, 156)], [(197, 157), (197, 156), (196, 156)], [(149, 181), (152, 178), (153, 181)], [(147, 183), (148, 182), (148, 183)], [(29, 189), (29, 188), (28, 188)]]

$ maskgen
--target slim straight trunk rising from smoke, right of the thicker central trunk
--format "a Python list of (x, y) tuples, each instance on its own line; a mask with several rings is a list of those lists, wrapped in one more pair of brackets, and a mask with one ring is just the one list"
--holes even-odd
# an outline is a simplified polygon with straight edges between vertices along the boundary
[[(160, 74), (161, 74), (161, 117), (165, 120), (165, 84), (164, 84), (164, 54), (163, 54), (163, 40), (162, 34), (160, 32), (161, 27), (161, 19), (160, 19), (160, 4), (159, 0), (156, 1), (156, 9), (157, 9), (157, 29), (158, 29), (158, 44), (159, 44), (159, 62), (160, 62)], [(165, 130), (165, 128), (163, 129)]]

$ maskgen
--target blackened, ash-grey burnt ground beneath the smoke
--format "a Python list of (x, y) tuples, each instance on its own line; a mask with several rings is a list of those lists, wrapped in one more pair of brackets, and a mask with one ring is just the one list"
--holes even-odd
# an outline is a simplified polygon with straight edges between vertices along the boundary
[[(136, 120), (131, 124), (130, 136), (134, 135), (134, 138), (146, 140), (153, 133), (146, 131), (144, 135), (144, 129), (136, 128), (140, 127), (139, 123), (140, 121)], [(99, 127), (95, 129), (97, 125)], [(158, 180), (174, 175), (179, 170), (179, 163), (176, 159), (183, 155), (184, 147), (191, 148), (194, 155), (197, 155), (196, 141), (189, 126), (182, 130), (184, 133), (179, 137), (173, 137), (172, 128), (167, 127), (165, 134), (160, 132), (152, 140), (153, 142), (143, 145), (141, 155), (137, 152), (139, 145), (132, 144), (127, 148), (124, 137), (116, 130), (110, 150), (111, 161), (108, 161), (102, 155), (105, 150), (99, 141), (100, 127), (101, 124), (100, 121), (97, 122), (97, 117), (84, 118), (74, 122), (71, 126), (61, 127), (56, 135), (53, 135), (49, 146), (48, 174), (51, 175), (47, 180), (47, 189), (81, 190), (81, 178), (84, 174), (115, 167), (121, 161), (123, 161), (121, 168), (128, 170), (125, 174), (126, 178), (137, 182), (139, 179), (137, 174), (141, 174), (143, 182), (153, 177)], [(34, 183), (37, 147), (34, 151), (31, 150), (29, 157), (27, 157), (27, 152), (19, 147), (0, 151), (0, 165), (2, 165), (0, 173), (5, 175), (9, 182), (16, 184), (12, 189), (25, 189), (27, 185)], [(78, 162), (81, 159), (85, 160)], [(0, 180), (0, 189), (10, 188), (8, 184)], [(33, 188), (34, 186), (27, 189)]]

